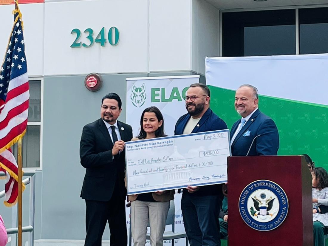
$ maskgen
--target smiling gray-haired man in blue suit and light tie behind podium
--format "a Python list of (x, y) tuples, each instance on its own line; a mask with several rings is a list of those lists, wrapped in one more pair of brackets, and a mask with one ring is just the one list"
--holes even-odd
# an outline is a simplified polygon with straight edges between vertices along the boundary
[(277, 155), (279, 135), (275, 122), (258, 109), (256, 87), (241, 85), (236, 91), (235, 108), (241, 119), (230, 132), (231, 154)]

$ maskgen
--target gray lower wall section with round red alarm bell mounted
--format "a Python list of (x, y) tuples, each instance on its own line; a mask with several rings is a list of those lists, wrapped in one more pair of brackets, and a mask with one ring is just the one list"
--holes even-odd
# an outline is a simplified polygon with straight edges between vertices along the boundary
[[(85, 76), (44, 78), (42, 239), (84, 239), (85, 202), (79, 197), (85, 174), (79, 144), (84, 125), (100, 117), (101, 98), (116, 92), (125, 121), (126, 77), (190, 75), (193, 72), (103, 74), (103, 86), (90, 92)], [(139, 119), (138, 119), (139, 120)], [(108, 226), (103, 240), (109, 240)]]

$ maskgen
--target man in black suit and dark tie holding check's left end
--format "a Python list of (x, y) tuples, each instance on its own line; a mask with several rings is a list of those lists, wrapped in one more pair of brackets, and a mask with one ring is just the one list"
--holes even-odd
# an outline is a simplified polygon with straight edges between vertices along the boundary
[(101, 246), (107, 221), (110, 245), (127, 245), (124, 142), (133, 136), (131, 126), (117, 121), (121, 106), (120, 97), (108, 93), (101, 101), (101, 118), (83, 127), (80, 157), (86, 168), (81, 191), (87, 208), (85, 246)]

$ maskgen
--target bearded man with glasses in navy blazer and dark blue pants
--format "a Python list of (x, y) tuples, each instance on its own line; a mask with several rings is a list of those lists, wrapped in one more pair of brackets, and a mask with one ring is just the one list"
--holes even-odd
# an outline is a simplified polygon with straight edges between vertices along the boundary
[[(210, 90), (203, 84), (192, 84), (185, 96), (187, 114), (175, 125), (174, 135), (227, 129), (226, 123), (210, 109)], [(218, 222), (222, 186), (188, 186), (183, 189), (181, 210), (191, 246), (219, 246)]]

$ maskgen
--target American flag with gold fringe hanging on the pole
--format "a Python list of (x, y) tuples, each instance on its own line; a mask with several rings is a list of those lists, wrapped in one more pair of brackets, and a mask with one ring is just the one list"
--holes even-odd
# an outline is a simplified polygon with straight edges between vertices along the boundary
[[(14, 13), (15, 21), (0, 67), (0, 168), (12, 177), (5, 186), (6, 198), (18, 194), (18, 189), (15, 189), (18, 184), (14, 184), (18, 182), (18, 168), (8, 149), (26, 132), (30, 98), (23, 25), (18, 7)], [(7, 206), (15, 203), (9, 202), (10, 199), (5, 199)]]

